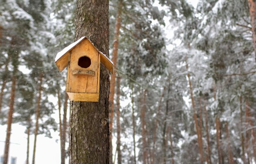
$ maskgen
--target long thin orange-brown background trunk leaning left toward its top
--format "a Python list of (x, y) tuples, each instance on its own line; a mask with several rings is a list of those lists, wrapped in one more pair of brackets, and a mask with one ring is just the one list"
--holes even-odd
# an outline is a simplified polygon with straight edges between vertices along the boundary
[(190, 97), (191, 97), (191, 102), (192, 102), (192, 108), (193, 108), (193, 117), (194, 117), (194, 121), (195, 121), (195, 129), (196, 129), (196, 134), (198, 136), (198, 147), (199, 147), (199, 153), (200, 153), (200, 163), (203, 164), (204, 163), (204, 154), (203, 154), (203, 145), (202, 145), (202, 136), (200, 134), (200, 127), (198, 125), (198, 118), (196, 115), (196, 111), (195, 111), (195, 100), (193, 97), (193, 89), (192, 89), (192, 83), (190, 80), (190, 73), (189, 73), (189, 64), (186, 60), (186, 69), (188, 71), (187, 73), (187, 77), (189, 80), (189, 90), (190, 90)]

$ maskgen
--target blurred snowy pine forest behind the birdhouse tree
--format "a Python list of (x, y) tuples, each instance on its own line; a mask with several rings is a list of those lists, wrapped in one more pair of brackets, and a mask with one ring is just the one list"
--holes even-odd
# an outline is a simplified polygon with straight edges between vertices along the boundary
[[(256, 163), (255, 11), (253, 0), (110, 0), (112, 163)], [(52, 131), (68, 158), (67, 72), (54, 58), (74, 42), (75, 12), (74, 0), (0, 1), (0, 135), (9, 144), (11, 124), (26, 127), (27, 164), (29, 137)]]

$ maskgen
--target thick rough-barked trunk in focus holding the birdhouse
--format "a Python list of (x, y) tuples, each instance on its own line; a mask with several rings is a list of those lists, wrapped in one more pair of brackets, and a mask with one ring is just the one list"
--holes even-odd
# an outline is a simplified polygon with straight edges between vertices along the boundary
[[(108, 56), (108, 0), (77, 0), (75, 40), (87, 36)], [(72, 102), (70, 164), (109, 164), (109, 72), (101, 64), (99, 102)]]

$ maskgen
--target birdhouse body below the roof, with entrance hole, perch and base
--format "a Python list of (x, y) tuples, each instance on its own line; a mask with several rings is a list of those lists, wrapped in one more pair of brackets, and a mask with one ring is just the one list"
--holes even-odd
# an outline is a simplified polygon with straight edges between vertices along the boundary
[[(70, 98), (77, 100), (80, 93), (88, 93), (90, 101), (99, 99), (100, 55), (88, 40), (83, 40), (71, 51), (67, 72), (67, 92)], [(87, 96), (88, 97), (88, 96)], [(92, 100), (95, 99), (95, 100)], [(84, 98), (83, 98), (84, 100)]]

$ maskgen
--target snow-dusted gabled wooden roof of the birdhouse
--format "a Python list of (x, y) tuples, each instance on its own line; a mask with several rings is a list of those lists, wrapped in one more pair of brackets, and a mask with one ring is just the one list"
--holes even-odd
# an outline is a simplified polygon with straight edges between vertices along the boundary
[(76, 42), (70, 44), (69, 46), (65, 47), (62, 51), (58, 52), (55, 58), (55, 64), (58, 67), (58, 70), (61, 72), (63, 71), (63, 69), (65, 69), (67, 67), (68, 64), (68, 54), (70, 51), (72, 51), (72, 49), (74, 49), (78, 44), (80, 44), (81, 42), (83, 42), (83, 40), (88, 40), (92, 46), (99, 52), (100, 54), (100, 60), (101, 62), (106, 66), (106, 68), (113, 73), (113, 62), (105, 55), (103, 54), (101, 51), (99, 51), (94, 44), (90, 41), (90, 39), (88, 39), (87, 37), (83, 36), (82, 38), (80, 38), (79, 40), (77, 40)]

